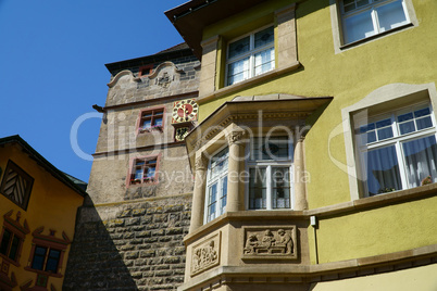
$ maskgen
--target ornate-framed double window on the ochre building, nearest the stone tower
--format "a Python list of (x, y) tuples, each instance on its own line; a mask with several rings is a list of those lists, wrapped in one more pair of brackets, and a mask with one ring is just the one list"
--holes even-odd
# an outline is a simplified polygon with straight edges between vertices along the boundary
[(62, 277), (62, 264), (71, 240), (65, 232), (62, 239), (55, 238), (54, 230), (49, 230), (49, 235), (42, 232), (43, 227), (39, 227), (32, 233), (34, 239), (25, 269), (41, 276)]

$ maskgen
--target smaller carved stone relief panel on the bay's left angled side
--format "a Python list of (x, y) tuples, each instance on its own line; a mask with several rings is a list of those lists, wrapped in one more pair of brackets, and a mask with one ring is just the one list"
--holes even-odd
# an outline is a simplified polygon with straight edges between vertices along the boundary
[(191, 276), (220, 265), (221, 237), (218, 231), (192, 248)]

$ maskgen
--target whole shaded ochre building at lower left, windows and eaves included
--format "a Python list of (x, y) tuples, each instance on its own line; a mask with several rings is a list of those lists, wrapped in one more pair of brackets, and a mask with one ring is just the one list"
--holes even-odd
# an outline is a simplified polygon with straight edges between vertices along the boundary
[[(1, 143), (0, 289), (62, 290), (76, 213), (85, 191), (76, 188), (20, 137), (1, 139)], [(30, 177), (30, 182), (22, 179), (26, 174), (11, 170), (11, 162)], [(27, 187), (30, 189), (25, 205), (20, 203), (23, 198), (20, 189)], [(8, 240), (5, 232), (13, 233), (18, 241)], [(12, 250), (14, 246), (16, 253)], [(41, 269), (34, 265), (38, 246), (46, 249)], [(50, 258), (54, 264), (51, 267), (48, 266)]]

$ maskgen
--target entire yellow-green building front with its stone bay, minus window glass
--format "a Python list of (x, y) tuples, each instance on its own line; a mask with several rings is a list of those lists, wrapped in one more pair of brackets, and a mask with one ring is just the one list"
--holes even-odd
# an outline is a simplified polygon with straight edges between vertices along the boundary
[[(191, 2), (187, 3), (187, 8)], [(341, 1), (257, 1), (255, 4), (240, 7), (240, 10), (234, 14), (225, 11), (224, 5), (227, 1), (218, 2), (223, 2), (223, 7), (216, 4), (215, 11), (223, 17), (217, 21), (201, 20), (197, 23), (200, 28), (192, 33), (201, 35), (203, 49), (198, 100), (201, 123), (187, 137), (187, 148), (192, 153), (191, 166), (199, 175), (198, 179), (208, 180), (208, 159), (207, 162), (202, 162), (203, 155), (212, 156), (217, 149), (213, 144), (218, 140), (221, 140), (220, 144), (227, 144), (221, 135), (232, 136), (234, 128), (245, 128), (241, 129), (246, 130), (246, 136), (242, 135), (240, 147), (247, 151), (249, 143), (245, 143), (244, 140), (249, 138), (248, 131), (266, 132), (274, 128), (275, 121), (277, 125), (285, 124), (279, 116), (285, 116), (287, 110), (288, 112), (302, 113), (305, 111), (308, 113), (305, 116), (296, 117), (299, 119), (296, 123), (287, 123), (287, 126), (292, 128), (297, 124), (302, 126), (303, 119), (303, 124), (311, 127), (302, 142), (303, 167), (308, 179), (303, 186), (295, 185), (295, 208), (291, 207), (290, 212), (250, 211), (247, 204), (248, 181), (241, 182), (240, 180), (239, 187), (236, 188), (230, 188), (233, 185), (228, 181), (226, 214), (216, 220), (207, 223), (204, 218), (203, 223), (201, 220), (202, 215), (207, 214), (204, 207), (208, 204), (204, 200), (208, 200), (205, 189), (209, 184), (208, 181), (197, 182), (193, 194), (193, 212), (196, 212), (196, 205), (201, 210), (198, 216), (195, 213), (196, 218), (191, 218), (191, 223), (198, 219), (198, 224), (195, 227), (191, 225), (190, 233), (186, 238), (187, 267), (198, 264), (195, 261), (189, 262), (190, 255), (196, 257), (193, 252), (199, 249), (197, 245), (201, 245), (201, 241), (208, 241), (208, 238), (217, 231), (222, 233), (223, 238), (221, 251), (228, 255), (230, 253), (229, 256), (234, 260), (226, 260), (227, 256), (222, 256), (222, 261), (216, 264), (217, 267), (209, 267), (200, 275), (198, 273), (193, 275), (187, 270), (186, 284), (180, 290), (197, 290), (196, 288), (200, 288), (202, 282), (208, 281), (211, 287), (217, 281), (216, 278), (227, 280), (226, 283), (216, 283), (217, 290), (222, 290), (220, 288), (225, 284), (230, 288), (226, 290), (244, 290), (232, 287), (238, 279), (230, 278), (237, 274), (248, 277), (239, 281), (241, 286), (250, 286), (250, 282), (257, 281), (257, 278), (260, 282), (265, 280), (263, 282), (269, 286), (270, 279), (265, 278), (265, 276), (269, 277), (266, 275), (269, 271), (272, 271), (271, 276), (275, 278), (283, 276), (282, 271), (284, 271), (288, 274), (284, 275), (285, 277), (303, 276), (302, 274), (304, 274), (307, 279), (301, 279), (301, 282), (322, 281), (310, 290), (373, 290), (370, 289), (370, 286), (379, 284), (379, 280), (388, 280), (389, 277), (388, 275), (387, 277), (374, 275), (378, 273), (376, 270), (378, 266), (390, 265), (391, 269), (388, 268), (388, 270), (396, 270), (395, 265), (402, 262), (425, 260), (427, 262), (425, 264), (435, 263), (437, 252), (437, 227), (434, 223), (437, 219), (435, 212), (437, 208), (436, 185), (404, 187), (399, 191), (373, 197), (366, 194), (360, 179), (362, 169), (358, 157), (358, 141), (353, 132), (358, 130), (354, 118), (363, 110), (371, 116), (426, 101), (433, 111), (432, 118), (436, 118), (437, 58), (435, 51), (437, 38), (433, 36), (437, 31), (434, 13), (437, 10), (437, 2), (430, 0), (399, 1), (408, 14), (407, 25), (353, 43), (344, 43), (341, 40), (342, 28), (339, 18)], [(203, 9), (204, 15), (209, 15), (213, 5), (211, 4), (211, 10), (208, 9), (208, 7)], [(199, 9), (199, 11), (201, 10)], [(182, 11), (183, 8), (175, 9), (174, 24), (179, 33), (187, 34), (187, 30), (184, 29), (189, 26), (186, 25), (188, 21), (184, 22), (184, 17), (191, 17), (190, 20), (193, 21), (199, 15), (196, 13), (200, 12), (184, 14), (179, 20), (177, 18), (179, 14), (176, 12), (182, 15)], [(274, 25), (275, 34), (274, 69), (225, 86), (227, 69), (229, 69), (227, 67), (229, 63), (226, 61), (228, 45), (240, 39), (239, 36), (249, 35), (270, 24)], [(296, 33), (286, 35), (287, 29)], [(198, 37), (197, 35), (196, 37)], [(189, 37), (186, 39), (196, 52), (195, 42), (190, 43)], [(326, 97), (330, 97), (332, 100), (308, 110), (310, 100)], [(298, 104), (297, 98), (301, 98), (302, 102), (307, 103)], [(294, 99), (295, 101), (286, 104), (282, 99)], [(259, 101), (258, 107), (253, 104), (253, 106), (249, 106), (250, 101)], [(238, 102), (241, 104), (240, 107), (234, 110), (234, 104)], [(284, 104), (284, 106), (280, 109), (278, 104)], [(305, 110), (302, 110), (303, 106), (307, 106)], [(252, 116), (250, 116), (250, 110), (252, 110)], [(263, 117), (267, 116), (270, 124), (264, 125), (262, 130), (259, 130), (255, 122), (258, 110), (270, 114), (263, 115)], [(292, 118), (295, 117), (289, 117), (289, 121)], [(220, 126), (222, 134), (217, 134), (217, 130), (208, 131), (208, 128), (213, 126)], [(234, 143), (235, 140), (229, 141), (228, 139), (229, 152)], [(296, 144), (298, 143), (295, 139), (295, 159), (297, 157)], [(245, 150), (240, 151), (245, 152)], [(250, 167), (248, 159), (246, 155), (242, 161), (240, 160), (239, 166), (233, 168), (242, 172), (245, 164), (249, 164)], [(233, 160), (229, 157), (229, 172), (232, 162)], [(295, 168), (296, 173), (298, 172)], [(298, 188), (304, 189), (305, 201), (300, 204), (303, 205), (302, 207), (297, 207), (299, 200), (297, 191), (300, 191), (297, 190)], [(196, 189), (199, 189), (198, 194)], [(238, 189), (238, 193), (230, 193), (230, 189)], [(238, 203), (229, 205), (232, 199)], [(196, 200), (201, 202), (197, 204)], [(229, 208), (232, 210), (229, 211)], [(276, 219), (272, 217), (276, 217)], [(261, 236), (257, 235), (260, 232), (247, 230), (245, 225), (246, 227), (264, 225), (265, 229), (269, 229), (269, 226), (284, 227), (286, 217), (289, 218), (291, 225), (296, 225), (296, 229), (299, 229), (301, 233), (300, 263), (288, 262), (287, 265), (287, 263), (280, 262), (279, 265), (284, 268), (280, 270), (274, 269), (274, 267), (266, 268), (265, 273), (261, 275), (261, 273), (257, 273), (257, 267), (273, 265), (277, 267), (278, 262), (275, 261), (277, 257), (273, 256), (270, 257), (271, 261), (264, 262), (257, 261), (257, 264), (253, 264), (253, 262), (245, 260), (245, 255), (238, 253), (245, 253), (245, 251), (229, 249), (229, 245), (248, 245), (250, 242), (245, 242), (245, 239), (250, 233), (254, 233), (252, 236), (255, 237)], [(307, 223), (302, 223), (302, 220)], [(224, 227), (226, 225), (228, 228)], [(257, 243), (254, 242), (253, 245)], [(304, 254), (304, 252), (308, 253)], [(414, 264), (411, 263), (409, 267), (416, 266)], [(226, 267), (234, 266), (241, 268), (238, 270), (226, 269)], [(288, 266), (288, 273), (285, 270), (286, 266)], [(299, 266), (307, 269), (299, 269)], [(366, 274), (364, 271), (366, 268), (374, 270), (367, 273), (367, 275), (372, 275), (366, 278), (370, 283), (367, 289), (352, 288), (355, 283), (360, 284), (359, 281), (352, 279), (349, 287), (347, 283), (339, 287), (340, 284), (324, 282), (350, 277), (360, 278)], [(435, 268), (435, 264), (426, 269), (429, 271), (433, 268)], [(349, 275), (340, 275), (348, 271)], [(416, 270), (414, 269), (394, 273), (392, 276), (394, 278), (410, 276), (409, 271), (414, 280), (426, 280), (426, 276), (415, 277), (413, 273)], [(337, 275), (334, 276), (335, 273)], [(263, 276), (264, 279), (260, 279)], [(309, 279), (310, 277), (312, 279)], [(314, 279), (315, 277), (319, 279)], [(372, 281), (372, 278), (375, 281)], [(292, 280), (289, 278), (284, 280), (289, 280), (290, 286), (292, 284)], [(218, 288), (218, 286), (221, 287)], [(241, 286), (240, 288), (242, 288)], [(279, 288), (278, 286), (277, 288)], [(433, 290), (429, 288), (436, 286), (436, 280), (428, 278), (424, 286), (426, 289), (423, 290)], [(254, 286), (252, 284), (252, 287)]]

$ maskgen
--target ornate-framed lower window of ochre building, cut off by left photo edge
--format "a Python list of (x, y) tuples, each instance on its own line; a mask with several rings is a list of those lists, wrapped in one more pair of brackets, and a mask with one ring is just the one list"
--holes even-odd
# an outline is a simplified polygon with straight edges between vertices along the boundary
[(21, 225), (21, 213), (16, 213), (16, 218), (11, 217), (13, 211), (3, 215), (4, 223), (0, 236), (0, 257), (9, 263), (20, 266), (20, 257), (23, 249), (23, 242), (26, 235), (30, 232), (27, 222)]

